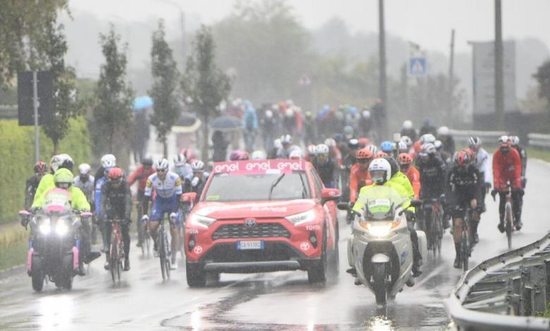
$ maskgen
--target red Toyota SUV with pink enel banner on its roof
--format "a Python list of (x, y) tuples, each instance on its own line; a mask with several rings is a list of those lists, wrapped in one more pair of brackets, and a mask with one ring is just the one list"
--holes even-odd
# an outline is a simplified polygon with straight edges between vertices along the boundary
[(202, 287), (220, 273), (306, 270), (309, 282), (337, 275), (339, 196), (309, 162), (214, 163), (185, 222), (188, 285)]

